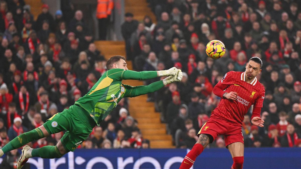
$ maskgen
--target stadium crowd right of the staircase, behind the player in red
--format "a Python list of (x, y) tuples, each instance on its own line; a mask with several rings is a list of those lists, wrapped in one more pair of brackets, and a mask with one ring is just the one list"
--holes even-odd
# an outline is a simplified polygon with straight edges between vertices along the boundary
[[(192, 148), (196, 132), (220, 98), (213, 87), (229, 71), (244, 71), (251, 57), (263, 61), (265, 127), (245, 115), (246, 147), (301, 146), (301, 6), (297, 0), (148, 0), (157, 24), (125, 14), (122, 33), (134, 69), (182, 69), (183, 79), (149, 94), (176, 147)], [(136, 29), (137, 28), (137, 29)], [(206, 44), (221, 40), (226, 54), (207, 57)], [(145, 81), (149, 84), (153, 81)], [(168, 105), (168, 106), (165, 106)], [(225, 147), (218, 137), (211, 147)]]

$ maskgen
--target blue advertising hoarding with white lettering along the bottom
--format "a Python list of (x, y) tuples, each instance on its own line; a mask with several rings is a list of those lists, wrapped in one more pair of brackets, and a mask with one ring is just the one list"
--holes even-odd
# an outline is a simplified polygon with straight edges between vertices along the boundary
[[(62, 158), (30, 158), (32, 169), (179, 168), (189, 149), (77, 149)], [(0, 158), (2, 161), (2, 158)], [(193, 168), (231, 168), (228, 149), (205, 149)], [(301, 148), (245, 148), (246, 168), (301, 168)]]

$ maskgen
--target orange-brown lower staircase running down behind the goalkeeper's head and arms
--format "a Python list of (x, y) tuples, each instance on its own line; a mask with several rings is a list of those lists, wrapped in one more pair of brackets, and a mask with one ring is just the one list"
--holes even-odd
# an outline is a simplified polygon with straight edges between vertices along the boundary
[[(114, 55), (126, 56), (124, 41), (95, 41), (98, 50), (106, 59)], [(126, 61), (132, 69), (132, 62)], [(143, 81), (124, 80), (131, 86), (143, 85)], [(143, 138), (150, 140), (151, 148), (174, 148), (171, 135), (166, 134), (166, 125), (160, 121), (160, 113), (155, 112), (154, 103), (147, 102), (147, 95), (129, 98), (129, 112), (138, 121)]]

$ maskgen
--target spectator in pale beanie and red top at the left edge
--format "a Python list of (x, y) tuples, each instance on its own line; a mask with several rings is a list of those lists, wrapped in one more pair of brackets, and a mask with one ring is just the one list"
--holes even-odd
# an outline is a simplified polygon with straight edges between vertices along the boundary
[(0, 109), (3, 114), (8, 111), (8, 104), (13, 101), (13, 95), (8, 93), (8, 88), (5, 83), (0, 86)]

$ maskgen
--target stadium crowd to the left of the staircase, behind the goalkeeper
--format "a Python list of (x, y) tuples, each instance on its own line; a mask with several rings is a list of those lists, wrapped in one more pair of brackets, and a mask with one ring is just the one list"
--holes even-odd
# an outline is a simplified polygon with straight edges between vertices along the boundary
[[(106, 71), (82, 11), (62, 1), (55, 16), (44, 4), (36, 20), (23, 0), (0, 1), (0, 147), (39, 127), (73, 105)], [(68, 1), (70, 2), (70, 1)], [(70, 15), (72, 14), (72, 15)], [(79, 146), (149, 148), (123, 99), (100, 127)], [(29, 143), (33, 148), (56, 145), (64, 132)], [(19, 152), (8, 153), (1, 168), (11, 166)]]

